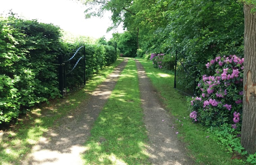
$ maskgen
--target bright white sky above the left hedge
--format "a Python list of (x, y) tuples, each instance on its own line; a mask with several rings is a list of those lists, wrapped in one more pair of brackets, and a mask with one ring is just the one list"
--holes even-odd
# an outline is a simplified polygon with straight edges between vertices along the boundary
[[(0, 14), (5, 15), (10, 9), (26, 19), (52, 23), (74, 35), (94, 38), (104, 35), (109, 39), (114, 32), (106, 33), (112, 24), (110, 12), (106, 12), (103, 18), (85, 19), (86, 6), (72, 0), (0, 0)], [(118, 32), (122, 32), (122, 28)]]

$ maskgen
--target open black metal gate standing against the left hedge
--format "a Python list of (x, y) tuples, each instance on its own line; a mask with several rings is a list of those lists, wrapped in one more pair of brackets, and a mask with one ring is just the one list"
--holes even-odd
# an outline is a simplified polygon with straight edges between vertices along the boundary
[(60, 91), (63, 95), (82, 88), (86, 83), (85, 43), (76, 46), (71, 55), (59, 56), (60, 62)]

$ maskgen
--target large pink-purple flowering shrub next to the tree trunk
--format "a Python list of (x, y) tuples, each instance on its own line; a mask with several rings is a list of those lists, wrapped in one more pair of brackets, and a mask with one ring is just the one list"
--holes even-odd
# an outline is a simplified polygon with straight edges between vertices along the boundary
[(190, 118), (213, 127), (229, 123), (230, 127), (240, 130), (243, 58), (236, 55), (218, 56), (210, 60), (206, 67), (214, 74), (203, 75), (201, 80), (197, 80), (200, 97), (193, 97), (190, 100)]

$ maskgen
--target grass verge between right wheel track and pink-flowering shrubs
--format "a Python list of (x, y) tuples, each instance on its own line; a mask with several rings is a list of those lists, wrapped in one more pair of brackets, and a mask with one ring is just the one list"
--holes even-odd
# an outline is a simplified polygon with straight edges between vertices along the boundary
[(174, 75), (166, 74), (153, 67), (151, 61), (138, 59), (144, 66), (147, 76), (161, 95), (161, 101), (166, 109), (176, 118), (175, 127), (179, 131), (179, 138), (187, 144), (187, 148), (193, 155), (196, 164), (199, 165), (243, 165), (240, 160), (231, 159), (227, 153), (217, 144), (217, 137), (207, 128), (192, 123), (189, 118), (186, 96), (173, 88)]

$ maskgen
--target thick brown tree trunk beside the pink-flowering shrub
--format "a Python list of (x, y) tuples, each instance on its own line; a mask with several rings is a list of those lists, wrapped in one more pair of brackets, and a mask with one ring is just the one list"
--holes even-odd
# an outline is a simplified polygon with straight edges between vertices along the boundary
[(241, 144), (249, 154), (256, 152), (256, 13), (245, 4), (245, 59)]

